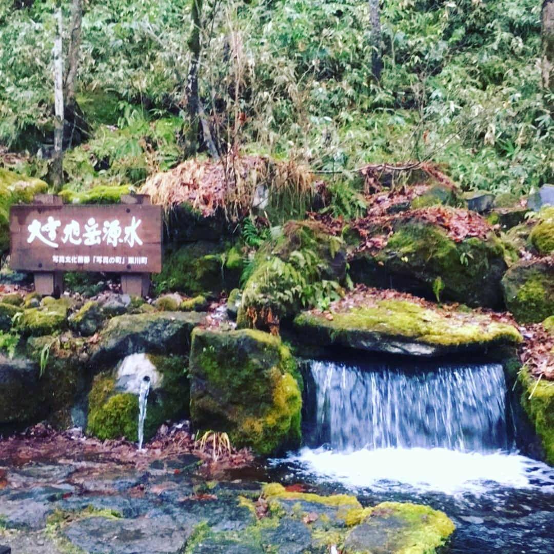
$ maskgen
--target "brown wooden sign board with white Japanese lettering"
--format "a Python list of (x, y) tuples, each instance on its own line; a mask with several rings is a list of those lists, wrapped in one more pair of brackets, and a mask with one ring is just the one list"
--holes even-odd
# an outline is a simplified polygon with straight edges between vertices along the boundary
[(142, 275), (162, 269), (160, 206), (12, 206), (9, 232), (10, 265), (16, 270)]

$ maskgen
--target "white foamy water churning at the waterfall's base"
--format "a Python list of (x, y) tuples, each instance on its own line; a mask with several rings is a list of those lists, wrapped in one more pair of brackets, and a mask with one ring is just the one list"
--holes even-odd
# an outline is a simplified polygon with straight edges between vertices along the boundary
[(445, 448), (382, 448), (332, 452), (302, 448), (288, 461), (306, 473), (349, 488), (396, 489), (455, 494), (540, 486), (554, 491), (554, 471), (519, 454), (464, 453)]

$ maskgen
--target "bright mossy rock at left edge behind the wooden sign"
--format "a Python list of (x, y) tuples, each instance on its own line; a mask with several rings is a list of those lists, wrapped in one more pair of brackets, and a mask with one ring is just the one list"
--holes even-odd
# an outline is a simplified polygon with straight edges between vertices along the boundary
[(35, 194), (47, 189), (48, 184), (40, 179), (0, 167), (0, 253), (9, 248), (9, 208), (14, 204), (29, 204)]

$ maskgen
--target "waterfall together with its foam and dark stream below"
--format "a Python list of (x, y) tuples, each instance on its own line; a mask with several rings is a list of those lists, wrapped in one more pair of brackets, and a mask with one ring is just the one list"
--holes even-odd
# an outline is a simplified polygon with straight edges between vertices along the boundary
[(289, 480), (444, 510), (451, 551), (554, 552), (554, 471), (521, 455), (498, 364), (309, 362)]

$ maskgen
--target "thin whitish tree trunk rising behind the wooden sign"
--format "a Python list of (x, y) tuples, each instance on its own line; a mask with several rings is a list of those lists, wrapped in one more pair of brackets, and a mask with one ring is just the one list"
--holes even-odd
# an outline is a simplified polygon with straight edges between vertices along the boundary
[(54, 163), (53, 181), (56, 191), (64, 182), (63, 174), (63, 141), (64, 141), (64, 64), (61, 45), (61, 8), (56, 14), (58, 32), (54, 39)]

